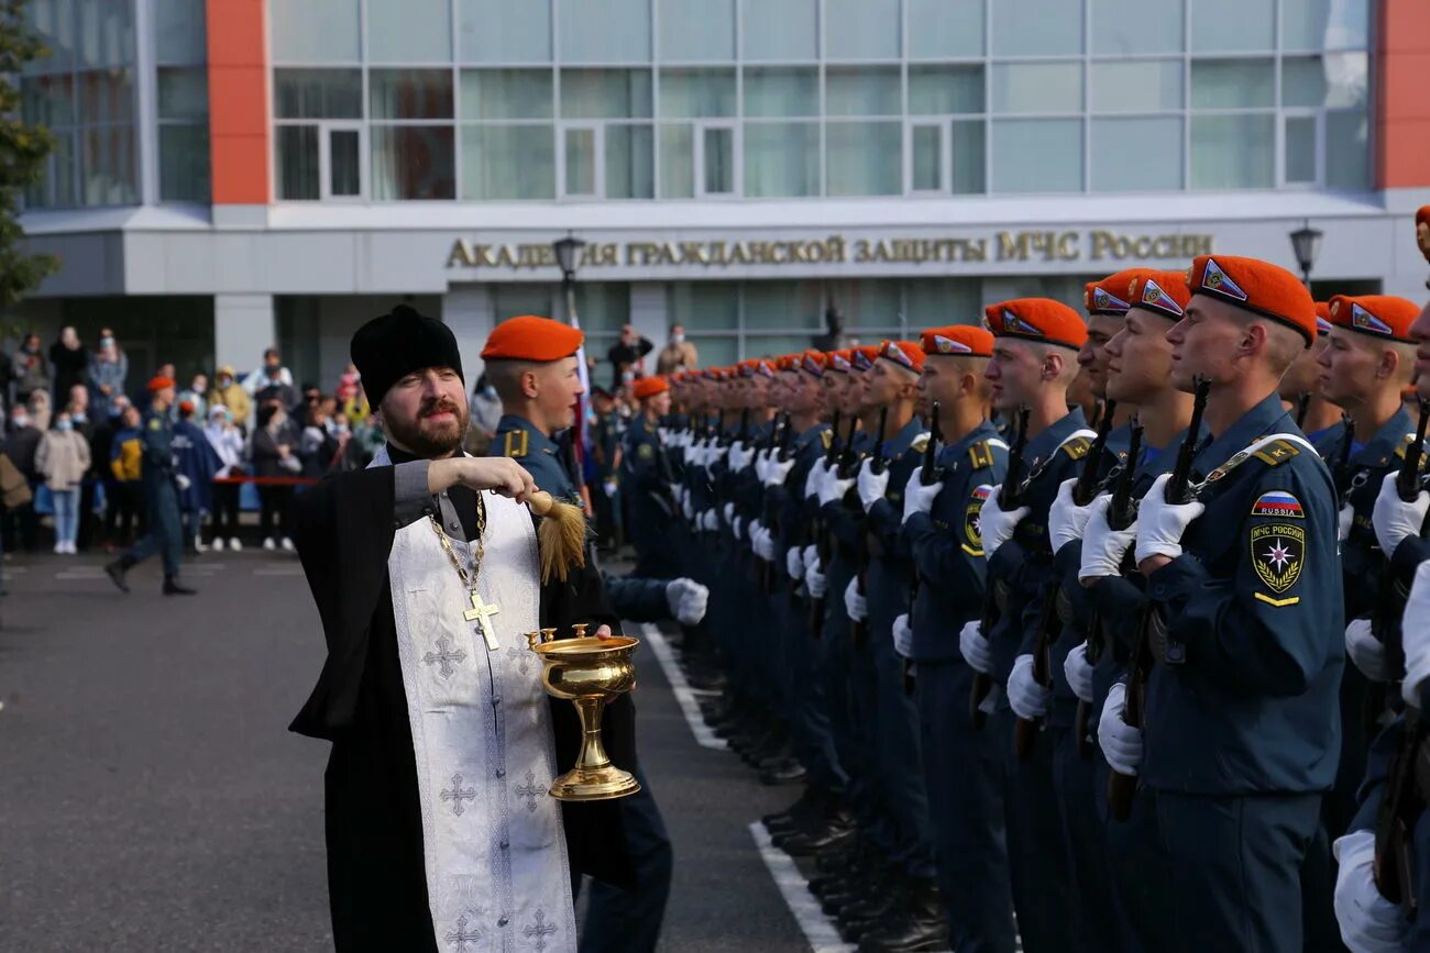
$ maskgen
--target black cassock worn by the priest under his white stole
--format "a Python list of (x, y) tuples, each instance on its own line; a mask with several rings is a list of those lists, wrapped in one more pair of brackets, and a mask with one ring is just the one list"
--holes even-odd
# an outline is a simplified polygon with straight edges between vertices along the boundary
[[(388, 579), (398, 529), (393, 483), (392, 467), (373, 467), (329, 477), (295, 500), (295, 539), (322, 616), (327, 660), (289, 730), (333, 743), (325, 774), (327, 892), (333, 940), (345, 952), (436, 950)], [(475, 514), (470, 492), (453, 489), (449, 497)], [(619, 632), (601, 574), (589, 563), (568, 582), (552, 580), (541, 590), (542, 627), (565, 636), (575, 622)], [(569, 770), (581, 749), (581, 723), (569, 702), (552, 699), (552, 727), (558, 770)], [(606, 706), (602, 734), (612, 762), (633, 772), (629, 694)], [(573, 876), (618, 886), (633, 882), (615, 802), (562, 804), (562, 819)]]

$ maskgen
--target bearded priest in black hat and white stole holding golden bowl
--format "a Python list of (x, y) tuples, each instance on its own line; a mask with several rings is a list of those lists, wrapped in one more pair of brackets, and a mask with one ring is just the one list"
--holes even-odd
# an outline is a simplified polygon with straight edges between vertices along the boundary
[[(327, 660), (293, 732), (332, 742), (326, 839), (333, 940), (347, 950), (576, 949), (581, 874), (629, 886), (618, 802), (548, 793), (581, 729), (546, 696), (523, 633), (619, 623), (591, 564), (542, 583), (538, 487), (466, 457), (456, 339), (406, 306), (352, 340), (388, 444), (295, 506)], [(606, 707), (636, 770), (629, 696)]]

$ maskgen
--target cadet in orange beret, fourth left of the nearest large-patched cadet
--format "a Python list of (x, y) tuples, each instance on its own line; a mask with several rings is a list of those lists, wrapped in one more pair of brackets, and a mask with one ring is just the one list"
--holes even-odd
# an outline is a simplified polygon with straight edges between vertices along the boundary
[(992, 334), (955, 324), (924, 331), (924, 413), (940, 404), (945, 443), (937, 477), (924, 466), (904, 487), (902, 540), (917, 572), (909, 616), (895, 620), (899, 654), (915, 666), (924, 786), (938, 880), (948, 912), (950, 946), (970, 953), (1011, 953), (1012, 894), (995, 779), (1002, 752), (968, 716), (972, 670), (958, 653), (958, 632), (982, 609), (984, 564), (978, 513), (1008, 467), (1008, 447), (988, 421)]

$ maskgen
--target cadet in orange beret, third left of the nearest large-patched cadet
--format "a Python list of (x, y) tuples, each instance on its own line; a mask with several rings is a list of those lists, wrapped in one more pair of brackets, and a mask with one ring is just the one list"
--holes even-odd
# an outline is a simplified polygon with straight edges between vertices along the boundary
[[(960, 649), (995, 686), (1007, 686), (992, 703), (987, 730), (994, 732), (1004, 752), (1001, 784), (1018, 930), (1022, 947), (1041, 953), (1067, 944), (1071, 872), (1065, 852), (1048, 850), (1062, 840), (1052, 793), (1052, 746), (1041, 740), (1028, 760), (1020, 760), (1014, 750), (1015, 719), (1045, 716), (1048, 700), (1041, 692), (1015, 700), (1021, 683), (1012, 674), (1015, 667), (1031, 666), (1045, 590), (1055, 583), (1048, 509), (1062, 480), (1075, 474), (1094, 436), (1083, 411), (1067, 407), (1067, 389), (1077, 374), (1074, 356), (1087, 340), (1087, 327), (1077, 311), (1050, 299), (991, 304), (985, 320), (997, 339), (988, 361), (994, 406), (1010, 416), (1020, 406), (1030, 411), (1021, 460), (1027, 477), (1011, 512), (1001, 509), (997, 492), (984, 502), (980, 526), (988, 580), (1001, 593), (998, 619), (990, 633), (977, 620), (964, 626)], [(1014, 703), (1027, 706), (1014, 712)]]

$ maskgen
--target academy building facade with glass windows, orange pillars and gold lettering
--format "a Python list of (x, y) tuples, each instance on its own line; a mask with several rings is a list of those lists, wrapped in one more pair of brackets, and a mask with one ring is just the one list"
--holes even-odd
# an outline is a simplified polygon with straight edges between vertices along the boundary
[[(475, 354), (561, 317), (702, 363), (974, 321), (1326, 233), (1316, 290), (1424, 294), (1421, 0), (31, 0), (57, 137), (13, 316), (132, 360), (336, 380), (399, 300)], [(475, 364), (475, 357), (472, 359)]]

